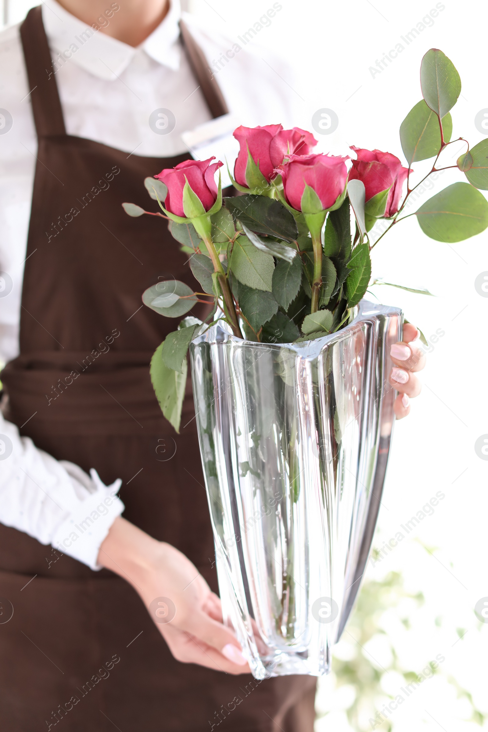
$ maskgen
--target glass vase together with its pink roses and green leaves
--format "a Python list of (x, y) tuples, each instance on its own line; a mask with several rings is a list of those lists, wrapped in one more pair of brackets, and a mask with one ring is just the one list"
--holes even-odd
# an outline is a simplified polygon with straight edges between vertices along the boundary
[[(407, 165), (353, 146), (348, 169), (348, 157), (314, 154), (310, 132), (270, 124), (234, 132), (240, 195), (222, 200), (214, 158), (145, 181), (163, 212), (152, 215), (168, 220), (201, 290), (160, 282), (143, 302), (170, 318), (209, 305), (205, 323), (187, 315), (157, 348), (151, 379), (179, 430), (189, 349), (222, 611), (259, 679), (326, 673), (364, 575), (402, 313), (363, 297), (372, 248), (422, 182), (410, 183), (411, 165), (432, 157), (427, 176), (465, 176), (407, 214), (427, 236), (458, 242), (488, 226), (478, 190), (488, 189), (488, 140), (466, 142), (456, 165), (439, 162), (459, 75), (431, 49), (420, 76), (423, 99), (400, 127)], [(372, 243), (378, 220), (387, 224)]]

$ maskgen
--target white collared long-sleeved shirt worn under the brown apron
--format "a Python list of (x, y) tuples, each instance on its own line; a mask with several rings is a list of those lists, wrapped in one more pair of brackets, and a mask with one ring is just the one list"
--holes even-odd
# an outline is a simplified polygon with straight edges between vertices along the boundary
[[(181, 133), (206, 122), (211, 115), (179, 43), (179, 18), (179, 2), (172, 0), (162, 23), (138, 48), (132, 48), (87, 27), (55, 0), (42, 3), (42, 20), (69, 135), (143, 156), (171, 157), (187, 151)], [(298, 124), (294, 92), (285, 81), (290, 74), (286, 64), (269, 55), (265, 61), (251, 43), (244, 48), (242, 40), (216, 37), (190, 15), (184, 20), (216, 73), (230, 111), (239, 116), (241, 124)], [(235, 44), (239, 51), (228, 53)], [(19, 26), (12, 26), (0, 34), (0, 114), (7, 110), (12, 118), (12, 127), (2, 133), (10, 118), (2, 128), (0, 117), (0, 272), (7, 272), (4, 281), (10, 290), (5, 296), (0, 290), (0, 361), (4, 362), (18, 355), (20, 296), (37, 154), (30, 91)], [(175, 115), (175, 127), (168, 135), (156, 134), (149, 125), (151, 112), (159, 108), (170, 109)], [(7, 443), (7, 451), (10, 444), (12, 448), (4, 460), (2, 441)], [(58, 546), (70, 533), (70, 526), (91, 511), (91, 504), (101, 506), (105, 501), (108, 512), (100, 509), (96, 531), (62, 549), (96, 569), (100, 544), (124, 509), (120, 499), (112, 496), (117, 488), (116, 484), (105, 488), (97, 474), (90, 479), (77, 466), (54, 460), (29, 438), (20, 438), (17, 427), (0, 414), (1, 523), (25, 531), (43, 544)]]

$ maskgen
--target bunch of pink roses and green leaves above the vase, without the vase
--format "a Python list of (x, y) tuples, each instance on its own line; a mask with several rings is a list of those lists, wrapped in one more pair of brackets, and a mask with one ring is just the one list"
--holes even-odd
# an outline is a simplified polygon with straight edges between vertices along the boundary
[[(488, 203), (477, 189), (488, 189), (488, 139), (473, 149), (466, 141), (456, 165), (438, 167), (443, 150), (464, 139), (451, 141), (449, 113), (461, 82), (452, 62), (435, 48), (422, 59), (420, 78), (424, 98), (399, 130), (406, 166), (389, 152), (351, 146), (357, 157), (348, 171), (348, 157), (312, 152), (317, 141), (310, 132), (269, 124), (234, 132), (240, 151), (231, 179), (242, 195), (222, 199), (215, 173), (223, 163), (214, 158), (186, 160), (146, 179), (171, 234), (191, 255), (189, 266), (202, 291), (175, 280), (159, 282), (143, 294), (144, 304), (178, 318), (203, 299), (213, 304), (207, 322), (218, 313), (237, 337), (260, 343), (313, 340), (350, 322), (367, 291), (370, 251), (379, 241), (371, 244), (369, 231), (379, 219), (388, 220), (381, 239), (406, 218), (405, 203), (431, 173), (457, 167), (465, 182), (446, 187), (408, 214), (417, 217), (424, 234), (459, 242), (484, 231)], [(431, 171), (410, 186), (410, 165), (430, 157), (435, 158)], [(124, 208), (132, 216), (149, 213), (132, 203)], [(185, 318), (151, 365), (162, 411), (176, 430), (185, 356), (201, 330)]]

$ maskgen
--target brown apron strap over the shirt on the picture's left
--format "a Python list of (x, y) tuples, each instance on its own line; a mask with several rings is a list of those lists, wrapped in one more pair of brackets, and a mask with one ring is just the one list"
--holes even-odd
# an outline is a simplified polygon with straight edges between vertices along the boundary
[(23, 56), (31, 90), (37, 137), (66, 135), (56, 76), (48, 39), (42, 24), (41, 6), (33, 7), (20, 26)]

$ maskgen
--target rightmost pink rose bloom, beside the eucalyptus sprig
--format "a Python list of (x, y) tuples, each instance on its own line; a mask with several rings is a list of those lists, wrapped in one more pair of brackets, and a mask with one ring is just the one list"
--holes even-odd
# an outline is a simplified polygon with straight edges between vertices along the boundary
[(360, 180), (364, 183), (366, 201), (382, 190), (390, 188), (384, 215), (386, 218), (393, 216), (398, 211), (408, 168), (404, 168), (399, 159), (390, 152), (364, 150), (353, 145), (350, 147), (356, 152), (358, 159), (353, 160), (349, 180)]

